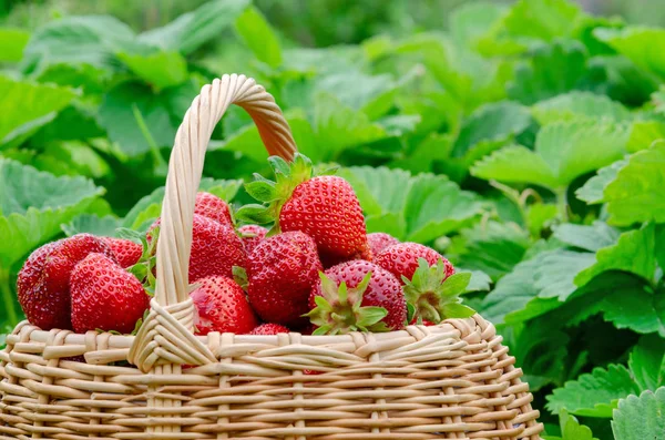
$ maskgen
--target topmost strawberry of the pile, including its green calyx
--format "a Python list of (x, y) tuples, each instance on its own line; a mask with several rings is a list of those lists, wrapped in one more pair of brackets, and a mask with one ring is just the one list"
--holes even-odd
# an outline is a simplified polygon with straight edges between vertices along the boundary
[(341, 177), (313, 177), (311, 162), (296, 154), (287, 164), (273, 156), (276, 182), (260, 176), (245, 187), (267, 206), (249, 205), (238, 217), (275, 222), (276, 232), (301, 231), (314, 238), (324, 266), (350, 259), (371, 259), (362, 209), (354, 188)]

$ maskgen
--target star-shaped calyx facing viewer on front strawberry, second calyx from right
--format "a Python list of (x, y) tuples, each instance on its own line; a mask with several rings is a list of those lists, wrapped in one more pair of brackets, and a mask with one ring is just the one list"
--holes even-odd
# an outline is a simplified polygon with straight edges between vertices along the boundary
[(362, 295), (369, 285), (371, 272), (352, 288), (347, 287), (344, 282), (337, 286), (323, 272), (319, 273), (319, 276), (323, 296), (315, 296), (316, 307), (304, 315), (317, 327), (313, 335), (389, 330), (381, 321), (388, 315), (388, 310), (383, 307), (361, 306)]

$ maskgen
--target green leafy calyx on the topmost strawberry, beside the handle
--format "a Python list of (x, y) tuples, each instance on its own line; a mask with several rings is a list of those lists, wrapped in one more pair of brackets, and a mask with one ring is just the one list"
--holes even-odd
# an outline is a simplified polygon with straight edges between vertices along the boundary
[(267, 236), (273, 236), (280, 232), (279, 213), (284, 204), (291, 197), (296, 186), (317, 175), (332, 174), (335, 170), (315, 173), (311, 161), (300, 153), (296, 153), (290, 163), (279, 156), (268, 157), (268, 163), (275, 174), (275, 181), (254, 173), (254, 182), (245, 184), (247, 194), (262, 204), (248, 204), (241, 207), (235, 213), (235, 219), (259, 225), (273, 223), (274, 226), (267, 234)]

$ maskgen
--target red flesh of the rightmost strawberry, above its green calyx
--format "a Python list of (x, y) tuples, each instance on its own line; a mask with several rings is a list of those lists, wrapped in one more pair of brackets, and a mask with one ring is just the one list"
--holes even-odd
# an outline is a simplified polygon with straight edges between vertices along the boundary
[(418, 243), (399, 243), (389, 246), (375, 257), (375, 263), (403, 283), (402, 276), (408, 279), (413, 277), (413, 273), (418, 268), (418, 258), (424, 258), (430, 266), (443, 260), (446, 276), (449, 277), (454, 274), (454, 268), (448, 259), (431, 247)]

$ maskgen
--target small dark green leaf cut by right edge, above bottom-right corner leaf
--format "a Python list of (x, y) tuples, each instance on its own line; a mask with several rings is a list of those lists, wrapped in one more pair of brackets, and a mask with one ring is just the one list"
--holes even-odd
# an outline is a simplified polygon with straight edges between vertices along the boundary
[(664, 355), (665, 339), (657, 335), (643, 336), (633, 347), (628, 367), (641, 391), (655, 390), (665, 382)]

